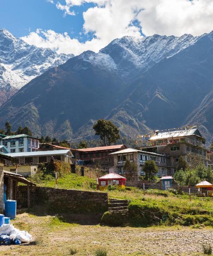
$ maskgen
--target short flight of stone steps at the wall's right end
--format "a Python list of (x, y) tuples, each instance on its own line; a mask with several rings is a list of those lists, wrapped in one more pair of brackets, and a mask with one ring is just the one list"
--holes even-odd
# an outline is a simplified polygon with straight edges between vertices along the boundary
[(127, 209), (127, 206), (128, 206), (127, 200), (111, 198), (109, 199), (108, 212), (121, 213), (122, 215), (127, 214), (127, 212), (129, 211)]

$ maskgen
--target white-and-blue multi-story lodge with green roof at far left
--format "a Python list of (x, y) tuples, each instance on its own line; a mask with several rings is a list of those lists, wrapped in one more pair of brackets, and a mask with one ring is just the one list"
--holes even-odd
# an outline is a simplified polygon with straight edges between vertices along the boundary
[(39, 148), (39, 139), (26, 134), (18, 134), (1, 138), (0, 145), (5, 146), (9, 153), (32, 152)]

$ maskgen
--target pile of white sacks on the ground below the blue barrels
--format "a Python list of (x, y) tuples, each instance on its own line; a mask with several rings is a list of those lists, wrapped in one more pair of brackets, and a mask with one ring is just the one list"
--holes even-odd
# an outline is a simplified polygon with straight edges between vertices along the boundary
[(21, 242), (30, 242), (32, 236), (27, 231), (20, 231), (13, 224), (3, 224), (0, 227), (0, 236), (7, 235), (11, 240), (19, 239)]

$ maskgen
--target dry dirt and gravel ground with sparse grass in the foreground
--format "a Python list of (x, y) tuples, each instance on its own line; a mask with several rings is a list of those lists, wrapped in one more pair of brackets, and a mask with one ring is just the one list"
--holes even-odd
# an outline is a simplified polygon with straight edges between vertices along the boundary
[(183, 227), (107, 227), (63, 223), (51, 216), (17, 215), (14, 227), (28, 230), (28, 244), (0, 246), (0, 256), (93, 256), (99, 247), (109, 256), (204, 255), (202, 244), (213, 245), (213, 229)]

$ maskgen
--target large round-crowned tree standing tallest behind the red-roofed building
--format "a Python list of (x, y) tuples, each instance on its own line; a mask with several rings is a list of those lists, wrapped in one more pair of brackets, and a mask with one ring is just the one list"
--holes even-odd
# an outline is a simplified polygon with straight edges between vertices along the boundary
[(99, 135), (101, 143), (104, 146), (109, 146), (120, 139), (119, 129), (111, 121), (105, 119), (99, 119), (95, 125), (93, 125), (95, 135)]

